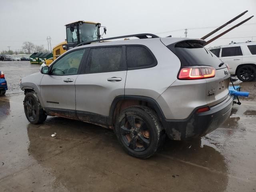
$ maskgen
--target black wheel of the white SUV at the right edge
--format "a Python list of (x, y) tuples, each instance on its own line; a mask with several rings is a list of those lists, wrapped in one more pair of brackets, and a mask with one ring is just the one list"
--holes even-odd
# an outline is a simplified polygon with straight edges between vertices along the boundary
[(252, 65), (240, 66), (237, 70), (237, 78), (241, 81), (248, 82), (256, 78), (256, 68)]

